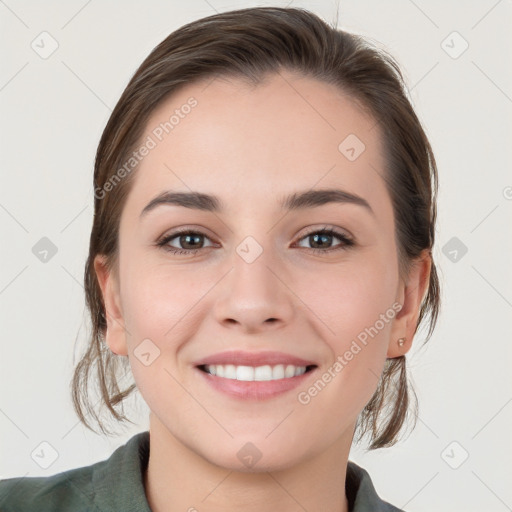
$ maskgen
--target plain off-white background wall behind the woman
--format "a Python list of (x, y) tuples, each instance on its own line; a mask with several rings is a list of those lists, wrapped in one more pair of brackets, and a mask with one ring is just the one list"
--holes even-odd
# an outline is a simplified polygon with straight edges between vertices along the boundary
[[(141, 398), (126, 409), (138, 423), (113, 438), (86, 430), (71, 405), (88, 332), (96, 146), (154, 46), (187, 22), (255, 5), (338, 14), (339, 28), (394, 55), (439, 166), (442, 313), (408, 355), (418, 424), (398, 445), (354, 448), (351, 459), (408, 511), (512, 510), (510, 0), (352, 0), (339, 12), (335, 1), (0, 2), (0, 477), (89, 465), (148, 428)], [(46, 59), (31, 46), (50, 41), (44, 31), (58, 43)], [(33, 253), (43, 237), (57, 249), (46, 263)], [(46, 469), (31, 456), (42, 442), (57, 455)]]

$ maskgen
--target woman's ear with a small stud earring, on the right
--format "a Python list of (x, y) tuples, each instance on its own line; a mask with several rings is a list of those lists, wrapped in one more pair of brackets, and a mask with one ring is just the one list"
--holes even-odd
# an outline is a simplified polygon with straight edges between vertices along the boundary
[[(387, 353), (388, 358), (403, 356), (412, 346), (421, 303), (428, 290), (431, 266), (432, 257), (430, 251), (425, 249), (413, 262), (407, 276), (407, 282), (400, 282), (397, 302), (402, 304), (402, 309), (396, 315), (391, 329)], [(399, 338), (405, 338), (405, 343), (402, 346), (397, 343)]]

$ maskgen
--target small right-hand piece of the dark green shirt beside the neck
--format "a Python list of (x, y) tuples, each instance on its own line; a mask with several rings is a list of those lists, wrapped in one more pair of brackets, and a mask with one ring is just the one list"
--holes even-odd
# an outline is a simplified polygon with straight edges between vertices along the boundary
[(380, 498), (368, 472), (348, 461), (345, 490), (350, 512), (406, 512)]

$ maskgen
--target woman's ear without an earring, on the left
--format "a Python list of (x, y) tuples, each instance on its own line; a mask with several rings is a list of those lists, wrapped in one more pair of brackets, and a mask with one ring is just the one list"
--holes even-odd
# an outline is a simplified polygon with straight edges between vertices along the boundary
[(102, 254), (98, 254), (94, 258), (94, 270), (105, 304), (105, 316), (107, 318), (105, 342), (114, 354), (126, 356), (128, 355), (128, 349), (118, 278), (114, 271), (108, 270), (106, 258)]

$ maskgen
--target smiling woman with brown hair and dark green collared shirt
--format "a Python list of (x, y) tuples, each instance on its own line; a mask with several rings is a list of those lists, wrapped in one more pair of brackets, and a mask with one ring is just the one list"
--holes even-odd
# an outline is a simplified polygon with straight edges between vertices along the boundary
[(153, 50), (97, 151), (73, 381), (86, 426), (106, 433), (95, 371), (117, 420), (140, 391), (149, 432), (2, 481), (2, 511), (400, 510), (348, 456), (398, 439), (405, 354), (439, 309), (437, 171), (404, 90), (391, 57), (300, 9), (211, 16)]

